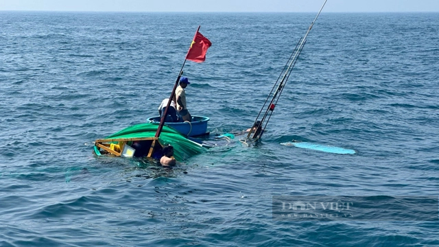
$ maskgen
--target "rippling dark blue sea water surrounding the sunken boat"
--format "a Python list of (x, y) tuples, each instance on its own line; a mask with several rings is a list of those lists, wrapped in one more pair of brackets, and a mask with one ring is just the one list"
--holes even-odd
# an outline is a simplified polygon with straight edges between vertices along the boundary
[(189, 110), (250, 128), (315, 15), (0, 12), (0, 246), (438, 246), (438, 222), (272, 219), (272, 196), (438, 195), (437, 13), (323, 12), (257, 145), (93, 156), (157, 114), (198, 25)]

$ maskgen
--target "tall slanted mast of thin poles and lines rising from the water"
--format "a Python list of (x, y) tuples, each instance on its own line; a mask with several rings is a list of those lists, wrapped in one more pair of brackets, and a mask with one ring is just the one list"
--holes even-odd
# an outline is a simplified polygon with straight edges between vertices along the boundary
[[(254, 120), (253, 126), (252, 126), (252, 128), (250, 128), (250, 131), (247, 134), (247, 138), (250, 138), (250, 136), (252, 134), (253, 134), (252, 139), (260, 139), (262, 137), (263, 130), (265, 130), (266, 126), (268, 125), (268, 121), (270, 121), (270, 118), (273, 114), (274, 108), (276, 107), (278, 99), (279, 99), (279, 97), (281, 97), (281, 94), (282, 94), (282, 91), (285, 87), (285, 84), (287, 83), (287, 80), (289, 79), (289, 75), (291, 75), (292, 69), (294, 68), (294, 65), (296, 65), (296, 62), (297, 62), (300, 54), (302, 53), (302, 49), (303, 49), (303, 47), (305, 47), (305, 44), (307, 43), (307, 36), (308, 36), (309, 32), (311, 31), (311, 28), (313, 27), (314, 23), (316, 23), (317, 18), (320, 15), (320, 12), (322, 12), (323, 7), (327, 3), (327, 1), (328, 0), (324, 1), (322, 8), (320, 8), (316, 18), (313, 20), (311, 25), (309, 25), (305, 36), (303, 36), (302, 38), (299, 39), (298, 45), (296, 45), (296, 47), (294, 48), (294, 50), (292, 52), (292, 55), (289, 57), (289, 59), (287, 61), (287, 64), (289, 64), (288, 67), (287, 67), (287, 64), (285, 64), (286, 69), (284, 67), (283, 70), (281, 71), (281, 75), (283, 75), (281, 81), (279, 82), (279, 79), (281, 78), (281, 75), (279, 75), (278, 79), (274, 83), (272, 91), (270, 91), (270, 93), (268, 94), (268, 97), (267, 97), (267, 99), (265, 99), (265, 102), (264, 102), (261, 110), (259, 111), (259, 114), (257, 115), (256, 119)], [(277, 88), (276, 88), (276, 85), (277, 85)], [(276, 88), (276, 91), (274, 91), (274, 94), (272, 95), (274, 88)], [(262, 118), (259, 121), (258, 119), (261, 116), (261, 113), (263, 112), (265, 105), (267, 104), (270, 97), (271, 97), (270, 104), (268, 104), (268, 108), (265, 109), (265, 113), (262, 115)], [(268, 116), (268, 119), (267, 119), (267, 116)]]

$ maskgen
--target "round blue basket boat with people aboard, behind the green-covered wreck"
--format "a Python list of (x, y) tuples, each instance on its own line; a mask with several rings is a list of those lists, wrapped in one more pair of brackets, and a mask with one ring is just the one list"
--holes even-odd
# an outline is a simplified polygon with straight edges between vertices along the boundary
[[(167, 126), (174, 128), (181, 134), (184, 134), (188, 137), (200, 137), (206, 134), (207, 132), (207, 122), (209, 121), (209, 117), (202, 116), (192, 116), (191, 122), (178, 122), (178, 123), (165, 123)], [(150, 117), (147, 119), (148, 122), (156, 122), (160, 123), (160, 117)]]

